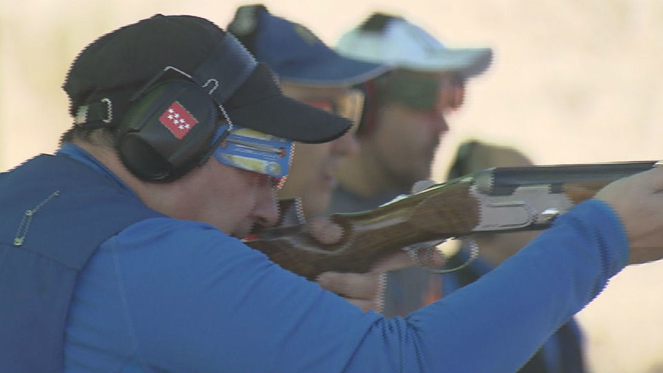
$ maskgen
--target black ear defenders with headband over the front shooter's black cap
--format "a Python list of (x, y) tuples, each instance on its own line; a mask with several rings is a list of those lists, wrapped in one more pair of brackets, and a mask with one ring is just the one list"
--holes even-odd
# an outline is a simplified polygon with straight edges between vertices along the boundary
[[(226, 33), (194, 72), (174, 66), (158, 72), (131, 97), (117, 127), (117, 150), (127, 169), (143, 180), (168, 182), (204, 163), (232, 127), (223, 102), (256, 66), (255, 58)], [(99, 104), (107, 106), (107, 113), (89, 110), (86, 119), (94, 119), (90, 115), (96, 112), (110, 122), (111, 100)], [(211, 144), (220, 119), (229, 129)]]

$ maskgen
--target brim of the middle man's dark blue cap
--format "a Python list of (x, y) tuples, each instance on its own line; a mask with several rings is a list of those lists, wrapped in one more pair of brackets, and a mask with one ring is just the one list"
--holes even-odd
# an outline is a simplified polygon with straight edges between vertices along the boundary
[(341, 86), (363, 83), (387, 71), (391, 66), (373, 64), (344, 58), (338, 54), (327, 54), (318, 61), (306, 64), (280, 66), (281, 80), (315, 86)]

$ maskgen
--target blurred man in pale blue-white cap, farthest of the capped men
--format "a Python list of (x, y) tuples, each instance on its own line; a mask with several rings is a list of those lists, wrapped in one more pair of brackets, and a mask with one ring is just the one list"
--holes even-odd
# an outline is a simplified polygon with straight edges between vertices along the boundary
[[(463, 104), (465, 81), (487, 70), (490, 48), (446, 48), (400, 17), (371, 15), (339, 40), (350, 58), (390, 64), (392, 72), (362, 85), (359, 151), (339, 169), (331, 212), (369, 210), (428, 179), (445, 115)], [(439, 278), (414, 267), (389, 273), (385, 315), (407, 315), (441, 296)]]

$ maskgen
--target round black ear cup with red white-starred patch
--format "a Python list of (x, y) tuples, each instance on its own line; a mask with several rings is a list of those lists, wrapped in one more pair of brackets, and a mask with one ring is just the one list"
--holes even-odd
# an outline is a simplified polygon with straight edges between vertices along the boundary
[(205, 88), (184, 79), (158, 82), (127, 110), (117, 149), (129, 171), (149, 181), (172, 181), (210, 149), (218, 109)]

